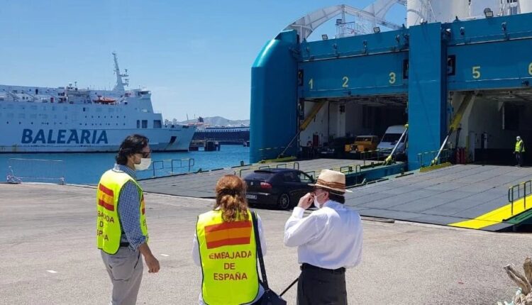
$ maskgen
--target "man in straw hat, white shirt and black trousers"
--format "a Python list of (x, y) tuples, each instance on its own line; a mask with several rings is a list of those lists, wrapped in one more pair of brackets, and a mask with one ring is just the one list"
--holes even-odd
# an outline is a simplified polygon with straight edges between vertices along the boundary
[[(362, 257), (360, 215), (343, 204), (345, 175), (322, 170), (314, 192), (299, 199), (284, 225), (284, 245), (297, 247), (301, 275), (297, 304), (348, 304), (345, 268), (355, 267)], [(314, 203), (316, 211), (303, 217)]]

